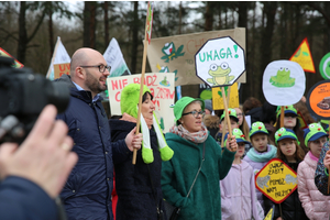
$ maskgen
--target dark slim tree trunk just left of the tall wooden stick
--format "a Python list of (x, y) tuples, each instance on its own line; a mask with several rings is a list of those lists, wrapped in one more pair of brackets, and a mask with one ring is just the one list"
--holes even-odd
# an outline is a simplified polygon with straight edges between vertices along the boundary
[(131, 52), (131, 72), (136, 73), (136, 62), (138, 62), (138, 47), (139, 47), (139, 1), (134, 1), (134, 12), (132, 26), (132, 52)]

